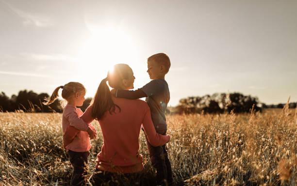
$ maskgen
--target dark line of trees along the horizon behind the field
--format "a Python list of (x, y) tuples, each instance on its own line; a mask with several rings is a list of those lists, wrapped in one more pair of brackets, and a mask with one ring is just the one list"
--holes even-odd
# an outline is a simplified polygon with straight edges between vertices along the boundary
[[(5, 93), (0, 93), (0, 111), (14, 112), (22, 110), (24, 112), (63, 112), (63, 101), (57, 99), (50, 105), (43, 105), (45, 98), (49, 97), (47, 93), (34, 93), (33, 91), (22, 90), (17, 95), (9, 98)], [(92, 101), (92, 98), (86, 98), (82, 107), (84, 111)], [(255, 111), (261, 111), (263, 108), (283, 108), (285, 104), (266, 105), (260, 103), (257, 97), (244, 95), (242, 93), (214, 93), (204, 96), (190, 96), (182, 98), (179, 105), (174, 109), (174, 113), (223, 113), (233, 110), (235, 113), (249, 112), (252, 106)], [(296, 108), (297, 103), (290, 103), (289, 108)]]

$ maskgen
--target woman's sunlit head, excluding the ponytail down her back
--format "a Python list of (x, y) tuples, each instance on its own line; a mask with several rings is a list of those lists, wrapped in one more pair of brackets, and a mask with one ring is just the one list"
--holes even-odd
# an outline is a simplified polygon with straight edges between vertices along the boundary
[(133, 71), (128, 64), (115, 64), (107, 74), (108, 84), (114, 89), (133, 89), (134, 79)]

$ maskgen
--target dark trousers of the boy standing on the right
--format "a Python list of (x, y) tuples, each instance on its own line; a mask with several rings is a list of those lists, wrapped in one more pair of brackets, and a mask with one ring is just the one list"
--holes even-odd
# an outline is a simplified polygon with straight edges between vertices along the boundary
[[(165, 134), (166, 132), (162, 132), (162, 135), (165, 135)], [(151, 164), (157, 171), (156, 184), (157, 185), (171, 184), (173, 182), (173, 178), (172, 178), (171, 164), (168, 159), (168, 154), (166, 151), (166, 144), (163, 146), (153, 147), (151, 144), (149, 144), (147, 136), (146, 136), (146, 140), (147, 140), (148, 152), (149, 152)]]

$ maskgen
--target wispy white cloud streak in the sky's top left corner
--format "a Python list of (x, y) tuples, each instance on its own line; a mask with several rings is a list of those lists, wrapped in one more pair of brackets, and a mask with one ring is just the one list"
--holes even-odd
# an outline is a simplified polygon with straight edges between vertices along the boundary
[(17, 16), (23, 19), (24, 25), (34, 25), (36, 27), (50, 27), (54, 25), (54, 21), (47, 16), (23, 12), (4, 0), (1, 0), (6, 6)]

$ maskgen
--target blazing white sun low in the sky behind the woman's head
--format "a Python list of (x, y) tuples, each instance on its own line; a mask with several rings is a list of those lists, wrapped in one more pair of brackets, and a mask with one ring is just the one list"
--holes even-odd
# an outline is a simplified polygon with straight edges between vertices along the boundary
[(132, 36), (122, 28), (88, 29), (91, 37), (83, 44), (78, 55), (78, 68), (82, 72), (81, 81), (93, 92), (114, 64), (126, 63), (134, 66), (138, 51)]

